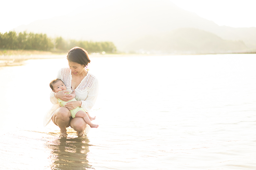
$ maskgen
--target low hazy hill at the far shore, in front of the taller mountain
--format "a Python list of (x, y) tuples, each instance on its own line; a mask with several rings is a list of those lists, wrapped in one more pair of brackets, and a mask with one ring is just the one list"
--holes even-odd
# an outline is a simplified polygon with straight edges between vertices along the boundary
[(200, 29), (178, 28), (168, 33), (141, 37), (125, 49), (130, 52), (203, 54), (242, 52), (247, 47), (242, 41), (224, 40)]

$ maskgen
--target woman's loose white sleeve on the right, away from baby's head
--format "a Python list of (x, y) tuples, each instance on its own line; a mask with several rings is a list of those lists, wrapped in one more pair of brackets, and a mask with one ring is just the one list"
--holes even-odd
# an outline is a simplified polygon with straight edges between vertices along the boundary
[(95, 78), (90, 90), (88, 91), (87, 98), (85, 100), (82, 100), (81, 107), (86, 112), (91, 110), (92, 107), (94, 106), (98, 96), (98, 90), (99, 90), (99, 83), (98, 83), (98, 80)]

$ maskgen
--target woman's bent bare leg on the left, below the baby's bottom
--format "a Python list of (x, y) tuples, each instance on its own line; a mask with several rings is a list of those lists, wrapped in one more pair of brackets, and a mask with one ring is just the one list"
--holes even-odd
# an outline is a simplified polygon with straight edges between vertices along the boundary
[(60, 128), (60, 133), (67, 133), (66, 127), (70, 126), (71, 113), (66, 107), (60, 107), (55, 111), (52, 121)]

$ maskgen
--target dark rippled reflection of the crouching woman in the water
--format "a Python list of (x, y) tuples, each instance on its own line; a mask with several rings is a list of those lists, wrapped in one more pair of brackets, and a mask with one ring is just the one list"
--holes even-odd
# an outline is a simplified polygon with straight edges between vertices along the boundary
[[(47, 148), (51, 149), (50, 165), (52, 170), (80, 170), (91, 169), (87, 160), (89, 152), (89, 140), (83, 138), (57, 138), (53, 141), (48, 141)], [(92, 168), (94, 169), (94, 168)]]

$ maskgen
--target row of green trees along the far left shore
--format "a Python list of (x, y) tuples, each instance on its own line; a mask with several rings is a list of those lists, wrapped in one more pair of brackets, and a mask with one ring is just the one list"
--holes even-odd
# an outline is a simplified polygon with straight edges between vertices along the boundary
[(74, 46), (84, 48), (89, 53), (102, 51), (115, 53), (117, 50), (113, 42), (64, 40), (62, 37), (52, 39), (46, 34), (27, 33), (26, 31), (23, 33), (9, 31), (3, 34), (0, 32), (0, 49), (67, 52)]

